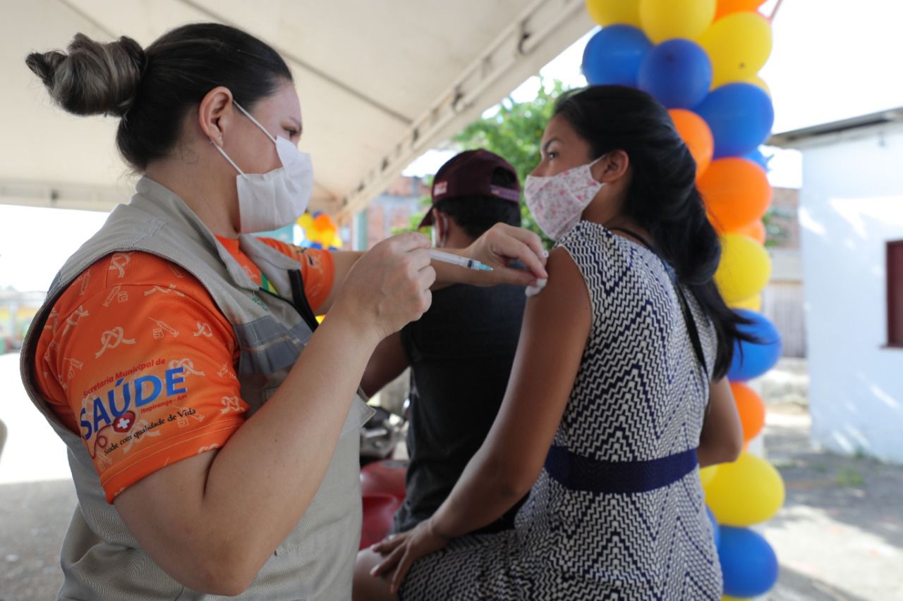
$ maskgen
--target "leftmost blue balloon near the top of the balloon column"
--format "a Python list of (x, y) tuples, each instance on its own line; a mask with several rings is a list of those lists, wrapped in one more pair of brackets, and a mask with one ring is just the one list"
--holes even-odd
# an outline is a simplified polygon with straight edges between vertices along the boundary
[(586, 42), (583, 76), (593, 86), (620, 84), (637, 87), (637, 73), (652, 42), (630, 25), (610, 25)]

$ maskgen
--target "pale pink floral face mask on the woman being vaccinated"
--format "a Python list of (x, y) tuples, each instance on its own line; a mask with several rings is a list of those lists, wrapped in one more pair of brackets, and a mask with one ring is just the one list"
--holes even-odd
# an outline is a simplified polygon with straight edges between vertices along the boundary
[(583, 209), (605, 185), (590, 171), (601, 158), (548, 177), (526, 176), (524, 201), (545, 236), (559, 240), (580, 221)]

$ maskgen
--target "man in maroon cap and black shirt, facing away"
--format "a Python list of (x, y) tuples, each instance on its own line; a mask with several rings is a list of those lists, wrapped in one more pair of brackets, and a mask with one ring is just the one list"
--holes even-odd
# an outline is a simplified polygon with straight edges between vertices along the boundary
[[(436, 247), (463, 248), (499, 221), (520, 226), (517, 171), (489, 151), (452, 157), (436, 173), (431, 196), (421, 227), (433, 226)], [(505, 395), (525, 300), (524, 289), (515, 286), (433, 291), (430, 310), (387, 337), (370, 359), (361, 383), (368, 394), (411, 367), (411, 460), (392, 532), (414, 528), (439, 508), (489, 434)], [(479, 532), (514, 527), (519, 507)]]

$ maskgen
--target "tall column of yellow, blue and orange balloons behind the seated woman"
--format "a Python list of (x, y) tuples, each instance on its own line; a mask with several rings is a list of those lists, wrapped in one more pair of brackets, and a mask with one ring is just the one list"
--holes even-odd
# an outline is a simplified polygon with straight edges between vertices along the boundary
[[(715, 282), (757, 339), (735, 347), (728, 374), (744, 448), (765, 421), (762, 400), (744, 382), (768, 371), (781, 352), (777, 330), (757, 312), (771, 273), (761, 219), (772, 197), (759, 146), (774, 120), (768, 86), (759, 78), (771, 52), (771, 23), (757, 12), (763, 3), (586, 0), (602, 29), (587, 43), (582, 63), (590, 84), (640, 88), (666, 106), (696, 161), (697, 187), (721, 234)], [(777, 580), (777, 559), (749, 526), (783, 504), (781, 476), (745, 449), (736, 462), (701, 475), (706, 504), (720, 524), (724, 595), (763, 595)]]

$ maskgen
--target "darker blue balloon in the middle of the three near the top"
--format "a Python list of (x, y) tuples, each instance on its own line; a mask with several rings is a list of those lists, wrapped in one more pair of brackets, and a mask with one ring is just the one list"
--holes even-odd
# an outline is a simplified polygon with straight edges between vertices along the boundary
[(668, 108), (690, 108), (712, 86), (712, 61), (702, 46), (668, 40), (652, 49), (639, 67), (638, 87)]

